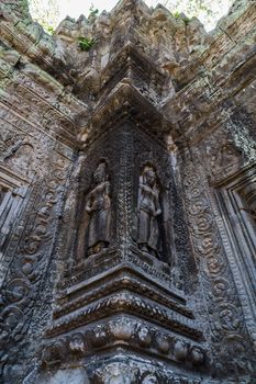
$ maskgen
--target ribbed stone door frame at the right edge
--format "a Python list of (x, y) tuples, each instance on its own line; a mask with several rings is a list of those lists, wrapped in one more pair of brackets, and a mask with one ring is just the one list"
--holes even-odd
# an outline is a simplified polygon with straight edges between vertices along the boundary
[[(232, 178), (224, 179), (213, 191), (212, 197), (218, 202), (216, 210), (226, 214), (226, 221), (219, 226), (222, 227), (222, 237), (227, 237), (231, 244), (227, 247), (229, 260), (233, 270), (236, 285), (240, 286), (241, 303), (246, 318), (246, 326), (251, 340), (255, 348), (255, 292), (256, 259), (255, 259), (255, 218), (254, 218), (254, 194), (255, 194), (255, 163), (244, 167)], [(252, 206), (251, 206), (252, 204)], [(243, 272), (242, 272), (243, 270)], [(243, 273), (243, 278), (241, 278)], [(246, 276), (246, 280), (244, 279)], [(245, 284), (246, 281), (246, 284)], [(255, 303), (255, 304), (253, 304)]]

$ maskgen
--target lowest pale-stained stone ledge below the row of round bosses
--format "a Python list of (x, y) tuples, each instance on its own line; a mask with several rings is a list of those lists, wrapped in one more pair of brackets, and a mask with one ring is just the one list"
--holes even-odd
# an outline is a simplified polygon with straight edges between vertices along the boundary
[(91, 357), (70, 366), (35, 369), (22, 384), (253, 384), (249, 377), (230, 381), (209, 379), (208, 372), (194, 374), (179, 366), (144, 358), (125, 349), (113, 349), (104, 355)]

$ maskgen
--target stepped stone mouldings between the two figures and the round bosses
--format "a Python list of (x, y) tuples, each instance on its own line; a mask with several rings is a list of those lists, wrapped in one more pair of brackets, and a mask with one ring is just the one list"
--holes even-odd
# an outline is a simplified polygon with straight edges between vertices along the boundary
[(162, 283), (127, 261), (60, 291), (54, 323), (47, 335), (60, 335), (119, 312), (202, 340), (183, 292)]

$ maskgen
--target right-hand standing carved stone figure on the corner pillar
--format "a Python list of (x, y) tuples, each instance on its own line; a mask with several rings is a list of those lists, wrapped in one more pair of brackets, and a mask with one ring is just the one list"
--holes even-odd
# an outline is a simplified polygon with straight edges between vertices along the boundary
[(137, 244), (142, 250), (156, 257), (159, 252), (158, 216), (160, 214), (156, 172), (153, 167), (146, 166), (141, 176), (138, 191)]

